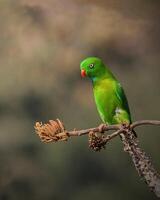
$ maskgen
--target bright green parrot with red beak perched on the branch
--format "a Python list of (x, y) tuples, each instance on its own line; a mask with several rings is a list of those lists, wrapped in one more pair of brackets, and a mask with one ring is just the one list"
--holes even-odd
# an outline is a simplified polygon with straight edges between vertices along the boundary
[(81, 76), (90, 78), (92, 82), (102, 122), (107, 125), (131, 124), (131, 113), (123, 87), (102, 59), (87, 57), (80, 63), (80, 70)]

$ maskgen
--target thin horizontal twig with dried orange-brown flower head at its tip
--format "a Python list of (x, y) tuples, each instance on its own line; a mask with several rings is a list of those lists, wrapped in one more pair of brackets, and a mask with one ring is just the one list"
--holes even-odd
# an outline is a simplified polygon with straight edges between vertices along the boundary
[[(127, 124), (116, 124), (116, 125), (106, 125), (101, 124), (98, 127), (95, 128), (89, 128), (89, 129), (82, 129), (82, 130), (73, 130), (73, 131), (67, 131), (64, 128), (63, 123), (57, 119), (55, 121), (50, 120), (46, 124), (42, 124), (42, 122), (36, 122), (35, 124), (35, 131), (41, 138), (43, 142), (57, 142), (57, 141), (66, 141), (68, 137), (72, 136), (82, 136), (87, 135), (90, 132), (94, 133), (101, 133), (106, 132), (110, 130), (120, 130), (116, 133), (112, 133), (111, 135), (108, 135), (107, 138), (110, 138), (111, 140), (113, 138), (113, 135), (119, 135), (120, 133), (124, 132), (125, 129), (133, 130), (134, 128), (142, 125), (160, 125), (160, 121), (158, 120), (141, 120), (133, 122), (130, 125)], [(115, 137), (115, 136), (114, 136)], [(108, 140), (108, 141), (109, 141)]]

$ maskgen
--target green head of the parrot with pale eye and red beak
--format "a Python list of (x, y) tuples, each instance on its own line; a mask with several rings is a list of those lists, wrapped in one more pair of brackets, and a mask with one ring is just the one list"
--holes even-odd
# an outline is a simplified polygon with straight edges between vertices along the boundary
[(97, 57), (89, 57), (83, 60), (80, 64), (81, 76), (89, 77), (92, 80), (94, 78), (100, 77), (106, 72), (106, 67), (102, 60)]

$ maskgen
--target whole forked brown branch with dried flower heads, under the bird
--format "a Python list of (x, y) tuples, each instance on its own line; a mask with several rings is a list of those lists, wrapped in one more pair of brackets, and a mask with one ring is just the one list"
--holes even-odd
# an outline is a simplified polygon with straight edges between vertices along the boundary
[[(89, 147), (94, 151), (100, 151), (101, 149), (105, 148), (106, 144), (110, 140), (120, 135), (124, 145), (124, 151), (131, 156), (138, 174), (145, 180), (150, 190), (160, 198), (160, 175), (153, 167), (150, 158), (139, 147), (138, 140), (134, 134), (134, 128), (142, 125), (160, 126), (160, 121), (141, 120), (133, 122), (132, 124), (101, 124), (95, 128), (67, 131), (63, 123), (57, 119), (55, 121), (50, 120), (49, 123), (46, 124), (37, 122), (35, 124), (35, 131), (40, 137), (41, 141), (46, 143), (67, 141), (73, 136), (88, 135)], [(110, 130), (114, 132), (105, 136), (104, 133)]]

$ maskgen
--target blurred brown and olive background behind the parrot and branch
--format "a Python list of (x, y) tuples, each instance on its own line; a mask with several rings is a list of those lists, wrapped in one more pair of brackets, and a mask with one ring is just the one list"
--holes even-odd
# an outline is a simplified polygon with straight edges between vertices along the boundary
[[(0, 199), (156, 199), (119, 138), (100, 153), (87, 137), (44, 144), (36, 121), (97, 126), (79, 63), (99, 56), (121, 81), (133, 120), (160, 119), (158, 0), (0, 0)], [(160, 129), (137, 129), (160, 169)]]

